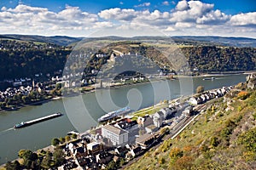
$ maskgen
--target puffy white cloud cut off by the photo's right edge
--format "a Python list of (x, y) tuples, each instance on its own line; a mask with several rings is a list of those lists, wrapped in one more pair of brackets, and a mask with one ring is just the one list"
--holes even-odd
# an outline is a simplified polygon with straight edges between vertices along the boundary
[(230, 24), (233, 26), (256, 25), (256, 12), (246, 14), (236, 14), (231, 17)]

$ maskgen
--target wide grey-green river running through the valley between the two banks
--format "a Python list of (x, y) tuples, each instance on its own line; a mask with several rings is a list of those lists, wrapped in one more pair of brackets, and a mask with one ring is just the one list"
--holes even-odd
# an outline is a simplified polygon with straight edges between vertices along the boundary
[[(43, 105), (30, 105), (19, 111), (0, 113), (0, 165), (17, 158), (21, 149), (38, 150), (50, 144), (55, 137), (65, 137), (67, 132), (84, 132), (96, 126), (97, 118), (108, 111), (115, 111), (129, 105), (137, 111), (154, 105), (164, 99), (176, 99), (182, 95), (195, 93), (202, 85), (205, 90), (221, 88), (245, 82), (247, 75), (214, 76), (214, 80), (202, 77), (183, 77), (172, 81), (159, 81), (101, 89), (75, 97), (57, 99)], [(39, 122), (29, 127), (14, 129), (15, 123), (47, 116), (60, 111), (64, 116)]]

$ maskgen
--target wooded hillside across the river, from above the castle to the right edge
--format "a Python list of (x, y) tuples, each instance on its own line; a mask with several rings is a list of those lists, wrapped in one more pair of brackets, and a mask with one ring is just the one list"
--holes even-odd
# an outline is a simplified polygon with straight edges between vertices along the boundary
[[(256, 70), (256, 48), (234, 48), (218, 46), (173, 45), (172, 42), (113, 42), (103, 51), (111, 50), (127, 54), (137, 53), (153, 60), (161, 68), (184, 70), (189, 64), (190, 71), (197, 68), (199, 72), (212, 71), (254, 71)], [(179, 59), (179, 60), (177, 60)], [(183, 60), (182, 60), (183, 59)], [(189, 72), (189, 71), (188, 71)], [(185, 74), (189, 74), (186, 72)]]

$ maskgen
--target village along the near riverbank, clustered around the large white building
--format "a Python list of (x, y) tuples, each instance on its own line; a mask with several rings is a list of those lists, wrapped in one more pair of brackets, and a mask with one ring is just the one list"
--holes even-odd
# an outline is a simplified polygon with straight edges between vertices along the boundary
[[(75, 142), (62, 145), (65, 163), (58, 169), (105, 169), (122, 167), (162, 142), (168, 134), (175, 138), (200, 114), (199, 106), (224, 96), (233, 87), (196, 94), (183, 101), (169, 101), (167, 107), (145, 116), (120, 116), (84, 133)], [(197, 109), (196, 109), (197, 108)]]

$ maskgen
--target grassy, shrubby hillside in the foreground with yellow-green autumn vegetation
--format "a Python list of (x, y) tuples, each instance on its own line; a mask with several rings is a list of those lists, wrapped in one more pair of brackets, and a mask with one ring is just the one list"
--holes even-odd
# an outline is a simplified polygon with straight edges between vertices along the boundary
[(256, 90), (241, 83), (207, 104), (176, 139), (125, 169), (255, 169)]

